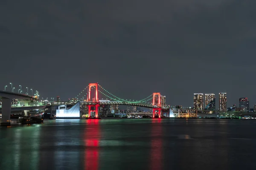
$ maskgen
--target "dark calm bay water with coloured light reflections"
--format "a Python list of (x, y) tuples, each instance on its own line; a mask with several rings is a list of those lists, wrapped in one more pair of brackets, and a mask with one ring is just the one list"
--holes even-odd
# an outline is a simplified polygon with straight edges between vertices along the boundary
[(45, 120), (0, 127), (0, 170), (255, 170), (256, 121)]

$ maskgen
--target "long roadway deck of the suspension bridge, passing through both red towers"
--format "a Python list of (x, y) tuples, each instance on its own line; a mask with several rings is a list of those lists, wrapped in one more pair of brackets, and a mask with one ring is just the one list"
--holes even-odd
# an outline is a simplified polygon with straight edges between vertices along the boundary
[[(50, 105), (69, 105), (76, 104), (76, 102), (47, 102)], [(149, 105), (145, 103), (130, 103), (130, 102), (80, 102), (81, 105), (129, 105), (129, 106), (138, 106), (143, 108), (162, 108), (169, 109), (169, 107), (158, 107), (155, 105)]]

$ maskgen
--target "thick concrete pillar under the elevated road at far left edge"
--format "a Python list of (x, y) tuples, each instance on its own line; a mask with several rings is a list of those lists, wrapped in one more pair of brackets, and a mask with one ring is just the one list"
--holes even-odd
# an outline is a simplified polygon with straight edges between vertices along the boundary
[(11, 125), (12, 99), (2, 97), (2, 123), (1, 125)]

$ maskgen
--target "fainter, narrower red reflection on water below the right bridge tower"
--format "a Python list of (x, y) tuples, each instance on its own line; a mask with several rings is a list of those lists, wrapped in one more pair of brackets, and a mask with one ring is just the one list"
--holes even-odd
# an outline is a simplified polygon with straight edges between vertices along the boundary
[(162, 169), (162, 124), (161, 119), (152, 119), (150, 169)]

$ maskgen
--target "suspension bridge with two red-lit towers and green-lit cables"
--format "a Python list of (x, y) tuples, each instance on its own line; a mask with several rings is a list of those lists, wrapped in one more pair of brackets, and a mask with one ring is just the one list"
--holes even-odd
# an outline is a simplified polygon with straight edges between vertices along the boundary
[[(83, 93), (86, 94), (83, 94)], [(112, 101), (101, 101), (99, 100), (99, 94), (111, 99)], [(83, 95), (83, 96), (82, 96)], [(76, 96), (76, 99), (79, 100), (79, 96), (81, 104), (86, 105), (88, 107), (88, 117), (91, 118), (91, 112), (95, 112), (95, 117), (98, 118), (98, 108), (100, 105), (130, 105), (130, 106), (138, 106), (144, 108), (152, 108), (153, 109), (153, 118), (158, 114), (158, 117), (161, 117), (161, 111), (169, 109), (168, 106), (161, 105), (159, 92), (153, 93), (147, 96), (144, 99), (140, 100), (128, 100), (117, 97), (116, 95), (111, 94), (105, 88), (103, 88), (98, 83), (90, 83), (87, 85), (84, 90), (82, 90), (79, 95)], [(150, 102), (152, 101), (152, 102)]]

